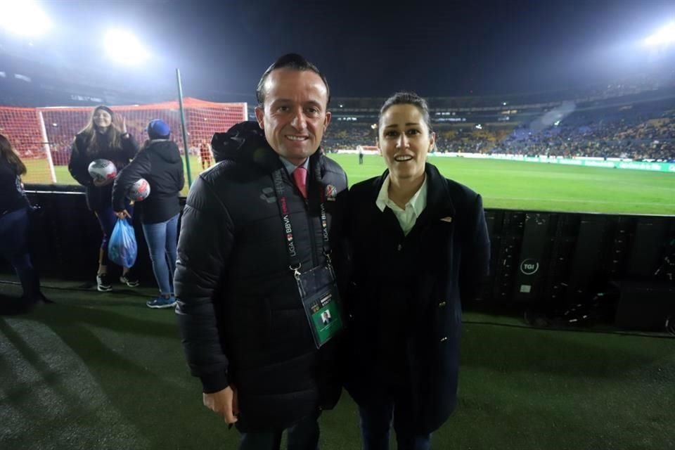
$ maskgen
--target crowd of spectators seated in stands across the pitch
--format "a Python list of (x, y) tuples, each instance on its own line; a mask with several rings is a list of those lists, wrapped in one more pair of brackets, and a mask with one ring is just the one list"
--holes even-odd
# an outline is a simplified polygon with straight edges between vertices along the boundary
[[(667, 104), (667, 103), (666, 103)], [(366, 123), (367, 122), (367, 123)], [(578, 110), (556, 124), (435, 124), (437, 151), (626, 158), (675, 162), (675, 108), (624, 105)], [(324, 138), (328, 152), (375, 145), (367, 120), (330, 124)]]

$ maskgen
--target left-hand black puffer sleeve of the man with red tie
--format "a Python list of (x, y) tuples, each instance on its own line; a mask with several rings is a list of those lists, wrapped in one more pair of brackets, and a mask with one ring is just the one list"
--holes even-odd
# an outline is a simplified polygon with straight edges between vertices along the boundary
[(224, 301), (219, 295), (233, 246), (232, 229), (225, 206), (212, 186), (199, 177), (183, 212), (174, 288), (188, 366), (207, 393), (229, 385), (228, 359), (219, 332), (224, 324), (217, 316), (221, 308), (216, 302)]

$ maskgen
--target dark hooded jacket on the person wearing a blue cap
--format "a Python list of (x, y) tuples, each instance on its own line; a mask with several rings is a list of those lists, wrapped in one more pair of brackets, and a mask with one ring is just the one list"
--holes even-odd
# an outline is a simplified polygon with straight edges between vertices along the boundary
[(113, 211), (123, 211), (124, 198), (136, 181), (150, 184), (150, 195), (135, 203), (136, 214), (143, 224), (158, 224), (181, 212), (178, 194), (185, 184), (183, 160), (174, 141), (148, 141), (136, 158), (117, 174), (113, 185)]

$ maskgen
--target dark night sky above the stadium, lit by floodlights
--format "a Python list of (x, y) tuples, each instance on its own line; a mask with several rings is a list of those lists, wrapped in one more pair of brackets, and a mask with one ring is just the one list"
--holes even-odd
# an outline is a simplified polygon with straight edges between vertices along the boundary
[[(44, 58), (77, 60), (134, 86), (246, 100), (264, 69), (296, 52), (333, 96), (471, 96), (570, 89), (649, 69), (640, 41), (675, 1), (43, 1), (58, 27)], [(100, 54), (108, 27), (133, 30), (153, 58), (120, 70)], [(126, 49), (120, 49), (126, 51)], [(79, 58), (79, 59), (78, 59)], [(94, 77), (94, 75), (92, 75)], [(140, 81), (139, 81), (140, 80)]]

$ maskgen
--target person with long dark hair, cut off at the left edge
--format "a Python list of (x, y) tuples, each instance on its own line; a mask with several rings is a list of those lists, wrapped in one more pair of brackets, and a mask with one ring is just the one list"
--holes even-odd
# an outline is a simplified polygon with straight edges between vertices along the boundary
[(9, 139), (0, 134), (0, 256), (11, 262), (23, 288), (23, 297), (18, 302), (1, 302), (2, 314), (18, 314), (39, 302), (49, 302), (40, 292), (37, 271), (28, 253), (31, 206), (21, 183), (21, 176), (25, 174), (26, 166)]

